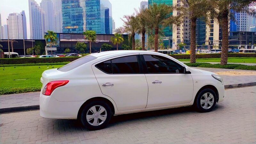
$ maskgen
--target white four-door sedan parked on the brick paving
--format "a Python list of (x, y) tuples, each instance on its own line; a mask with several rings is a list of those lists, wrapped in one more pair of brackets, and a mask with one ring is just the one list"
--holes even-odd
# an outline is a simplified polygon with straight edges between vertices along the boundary
[(44, 71), (41, 82), (40, 116), (79, 119), (89, 130), (127, 113), (192, 105), (209, 112), (224, 99), (220, 76), (149, 51), (93, 53)]

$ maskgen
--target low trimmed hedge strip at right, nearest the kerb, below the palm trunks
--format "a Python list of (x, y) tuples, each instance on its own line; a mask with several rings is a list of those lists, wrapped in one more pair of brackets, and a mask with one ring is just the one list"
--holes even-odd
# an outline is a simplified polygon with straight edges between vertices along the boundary
[(256, 70), (256, 66), (246, 66), (242, 64), (210, 64), (210, 63), (203, 63), (203, 62), (196, 62), (196, 63), (184, 63), (189, 67), (200, 67), (200, 68), (225, 68), (225, 69), (242, 69), (242, 70)]

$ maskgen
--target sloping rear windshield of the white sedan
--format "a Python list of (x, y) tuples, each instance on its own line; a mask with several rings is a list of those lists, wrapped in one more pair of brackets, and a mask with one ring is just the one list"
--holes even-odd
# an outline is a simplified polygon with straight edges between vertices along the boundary
[(94, 56), (91, 56), (91, 55), (86, 55), (82, 58), (79, 58), (77, 60), (74, 60), (68, 64), (66, 64), (65, 66), (61, 67), (61, 68), (58, 68), (59, 71), (62, 71), (62, 72), (66, 72), (66, 71), (69, 71), (69, 70), (72, 70), (74, 68), (77, 68), (89, 61), (92, 61), (92, 60), (95, 60), (97, 59), (96, 57)]

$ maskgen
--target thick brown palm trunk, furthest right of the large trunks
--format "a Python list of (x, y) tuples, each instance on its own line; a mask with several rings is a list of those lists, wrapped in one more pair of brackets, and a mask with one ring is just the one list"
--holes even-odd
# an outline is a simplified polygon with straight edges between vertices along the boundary
[(228, 12), (222, 13), (222, 48), (220, 65), (228, 63)]

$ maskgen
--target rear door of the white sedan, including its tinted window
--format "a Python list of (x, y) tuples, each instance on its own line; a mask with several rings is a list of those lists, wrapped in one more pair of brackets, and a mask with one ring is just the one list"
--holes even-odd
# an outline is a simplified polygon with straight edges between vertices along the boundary
[(92, 65), (102, 94), (116, 103), (118, 111), (146, 108), (148, 84), (140, 55), (125, 55)]

